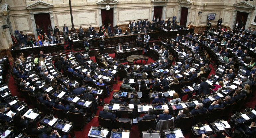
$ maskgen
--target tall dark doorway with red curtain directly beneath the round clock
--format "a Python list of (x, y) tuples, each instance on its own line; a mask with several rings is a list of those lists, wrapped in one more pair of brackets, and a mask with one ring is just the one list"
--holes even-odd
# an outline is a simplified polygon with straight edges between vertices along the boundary
[(102, 23), (104, 23), (104, 25), (106, 25), (106, 33), (109, 23), (111, 24), (110, 27), (113, 32), (113, 8), (111, 8), (110, 10), (101, 9), (101, 21)]

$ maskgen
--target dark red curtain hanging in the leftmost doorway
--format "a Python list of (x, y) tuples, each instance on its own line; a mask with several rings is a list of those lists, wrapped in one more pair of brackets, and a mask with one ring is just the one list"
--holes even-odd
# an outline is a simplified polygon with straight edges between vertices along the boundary
[[(34, 14), (36, 25), (39, 25), (40, 28), (42, 28), (42, 31), (48, 34), (47, 27), (50, 24), (50, 14), (49, 13), (40, 13), (40, 14)], [(52, 26), (54, 29), (54, 26)], [(43, 34), (41, 34), (43, 35)]]

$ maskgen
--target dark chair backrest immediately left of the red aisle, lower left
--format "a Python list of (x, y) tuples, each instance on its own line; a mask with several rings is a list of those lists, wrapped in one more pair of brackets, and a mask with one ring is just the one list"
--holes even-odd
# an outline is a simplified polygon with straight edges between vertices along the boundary
[(84, 116), (83, 113), (68, 112), (68, 119), (70, 122), (73, 122), (74, 126), (80, 126), (82, 128), (87, 121), (87, 114)]

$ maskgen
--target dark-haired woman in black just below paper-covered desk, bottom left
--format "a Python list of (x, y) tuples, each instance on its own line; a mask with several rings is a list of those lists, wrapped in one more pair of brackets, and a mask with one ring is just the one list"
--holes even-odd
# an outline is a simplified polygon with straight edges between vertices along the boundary
[(35, 120), (30, 120), (28, 122), (27, 129), (25, 130), (26, 134), (28, 135), (33, 135), (33, 136), (38, 136), (39, 138), (42, 138), (42, 134), (45, 134), (46, 131), (45, 126), (39, 126), (37, 127), (36, 121)]

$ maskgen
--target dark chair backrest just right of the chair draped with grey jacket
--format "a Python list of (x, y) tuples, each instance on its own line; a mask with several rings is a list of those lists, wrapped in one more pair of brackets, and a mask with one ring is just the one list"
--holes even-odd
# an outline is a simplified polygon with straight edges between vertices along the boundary
[[(177, 121), (177, 127), (180, 127), (181, 130), (189, 130), (192, 126), (194, 116), (190, 117), (179, 117), (179, 120)], [(184, 125), (186, 124), (186, 125)]]

